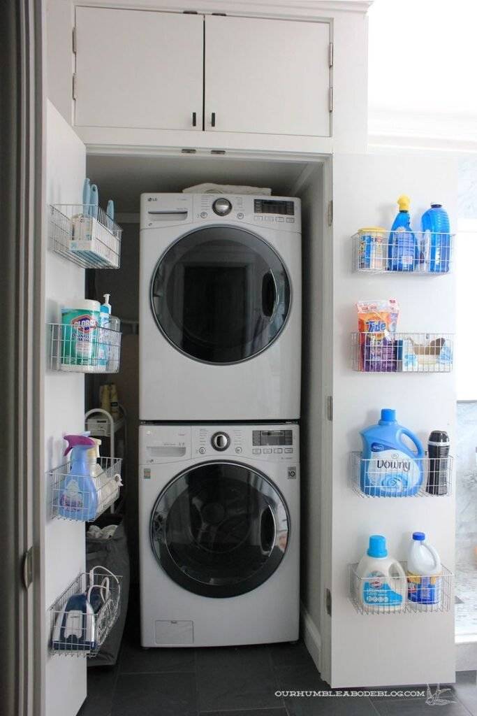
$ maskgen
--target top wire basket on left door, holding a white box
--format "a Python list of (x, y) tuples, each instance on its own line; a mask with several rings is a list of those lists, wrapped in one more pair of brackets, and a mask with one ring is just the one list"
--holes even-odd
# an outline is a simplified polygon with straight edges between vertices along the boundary
[(84, 269), (119, 269), (122, 228), (99, 206), (49, 206), (53, 251)]

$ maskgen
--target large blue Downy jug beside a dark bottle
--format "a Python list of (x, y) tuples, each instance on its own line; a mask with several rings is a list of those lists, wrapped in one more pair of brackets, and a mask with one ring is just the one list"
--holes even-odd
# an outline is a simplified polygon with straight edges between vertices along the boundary
[[(384, 408), (378, 425), (361, 432), (360, 488), (370, 497), (408, 497), (418, 493), (423, 483), (425, 453), (421, 440), (395, 418), (395, 410)], [(415, 450), (403, 442), (404, 435)]]

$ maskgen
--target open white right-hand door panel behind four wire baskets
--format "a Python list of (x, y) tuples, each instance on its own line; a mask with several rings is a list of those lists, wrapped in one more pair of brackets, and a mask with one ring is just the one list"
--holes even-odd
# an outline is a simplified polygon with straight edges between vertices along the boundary
[(453, 497), (363, 499), (350, 490), (348, 473), (350, 451), (361, 448), (360, 430), (377, 422), (383, 407), (395, 408), (398, 422), (423, 442), (431, 430), (441, 429), (456, 445), (453, 373), (365, 374), (350, 369), (356, 301), (395, 297), (401, 309), (398, 330), (453, 333), (454, 278), (353, 274), (350, 236), (361, 226), (390, 226), (401, 193), (410, 195), (416, 229), (431, 198), (442, 200), (455, 226), (457, 167), (445, 158), (405, 153), (335, 155), (333, 180), (333, 476), (326, 476), (333, 500), (330, 679), (335, 687), (452, 682), (453, 609), (438, 614), (357, 614), (348, 599), (347, 565), (359, 561), (370, 534), (376, 533), (388, 538), (391, 555), (405, 560), (411, 533), (422, 530), (453, 570)]

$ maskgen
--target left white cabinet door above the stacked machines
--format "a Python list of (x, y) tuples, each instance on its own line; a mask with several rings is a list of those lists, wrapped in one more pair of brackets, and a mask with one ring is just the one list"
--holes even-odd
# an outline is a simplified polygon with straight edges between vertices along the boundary
[(75, 125), (202, 130), (204, 19), (78, 7)]

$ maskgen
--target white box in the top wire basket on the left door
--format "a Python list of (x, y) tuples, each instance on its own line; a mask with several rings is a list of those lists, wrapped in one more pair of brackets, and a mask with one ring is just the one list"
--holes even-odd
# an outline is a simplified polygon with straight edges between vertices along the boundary
[(82, 253), (96, 266), (119, 267), (119, 238), (94, 216), (78, 214), (72, 218), (71, 250)]

